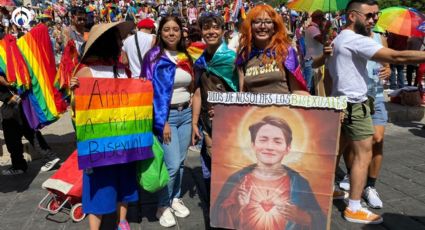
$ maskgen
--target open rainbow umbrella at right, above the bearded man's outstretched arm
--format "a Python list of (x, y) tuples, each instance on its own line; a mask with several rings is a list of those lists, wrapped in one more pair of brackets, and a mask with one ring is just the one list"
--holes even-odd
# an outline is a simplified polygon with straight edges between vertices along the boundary
[(418, 27), (425, 21), (425, 15), (416, 9), (394, 6), (383, 9), (376, 28), (404, 36), (421, 37), (424, 33)]

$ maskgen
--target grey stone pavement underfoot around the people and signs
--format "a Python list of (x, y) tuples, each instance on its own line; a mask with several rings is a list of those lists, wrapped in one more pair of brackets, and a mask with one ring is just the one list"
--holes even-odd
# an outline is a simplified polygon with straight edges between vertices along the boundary
[[(421, 128), (419, 122), (389, 124), (387, 128), (384, 163), (377, 182), (384, 208), (376, 211), (383, 215), (384, 223), (375, 226), (348, 223), (341, 217), (345, 204), (339, 201), (332, 206), (331, 229), (425, 229), (425, 130)], [(42, 132), (62, 160), (74, 150), (74, 134), (68, 114)], [(54, 173), (39, 173), (41, 165), (41, 160), (35, 160), (25, 175), (0, 175), (0, 230), (88, 229), (87, 218), (81, 223), (73, 223), (66, 210), (50, 215), (37, 208), (46, 194), (41, 184)], [(6, 166), (0, 166), (0, 170), (4, 168)], [(344, 168), (343, 164), (340, 168)], [(177, 219), (178, 225), (171, 229), (208, 228), (201, 174), (199, 155), (189, 152), (182, 193), (191, 215)], [(338, 170), (337, 177), (342, 175)], [(155, 218), (155, 207), (155, 194), (143, 193), (141, 202), (129, 209), (132, 229), (162, 229)], [(102, 229), (113, 229), (108, 224), (113, 221), (113, 215), (107, 216)]]

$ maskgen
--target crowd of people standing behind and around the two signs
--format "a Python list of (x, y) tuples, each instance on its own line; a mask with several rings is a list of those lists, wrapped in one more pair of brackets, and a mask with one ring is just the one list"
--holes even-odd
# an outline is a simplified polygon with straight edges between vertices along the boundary
[[(19, 27), (11, 21), (10, 11), (2, 8), (0, 38), (19, 37), (38, 22), (44, 23), (49, 26), (58, 64), (68, 41), (73, 41), (81, 65), (71, 79), (72, 89), (81, 77), (152, 82), (153, 132), (162, 143), (170, 175), (168, 185), (159, 192), (156, 216), (161, 226), (174, 226), (175, 216), (190, 215), (181, 199), (189, 146), (201, 146), (203, 176), (210, 189), (214, 107), (207, 101), (208, 91), (346, 96), (338, 162), (343, 156), (347, 175), (335, 185), (334, 198), (345, 197), (339, 188), (349, 192), (343, 214), (347, 221), (382, 222), (360, 201), (364, 198), (371, 208), (383, 207), (375, 182), (388, 120), (384, 87), (387, 79), (391, 89), (404, 86), (404, 65), (407, 85), (420, 86), (425, 54), (419, 51), (424, 48), (423, 37), (374, 31), (380, 16), (376, 1), (352, 0), (345, 11), (332, 14), (298, 13), (264, 3), (234, 6), (221, 0), (69, 4), (59, 0), (30, 9), (30, 23)], [(1, 100), (19, 105), (19, 97), (1, 75)], [(41, 133), (26, 125), (22, 111), (20, 116), (7, 116), (2, 110), (2, 116), (12, 155), (12, 166), (3, 175), (27, 169), (22, 136), (45, 153), (43, 171), (58, 163)], [(11, 136), (15, 130), (22, 133)], [(127, 204), (138, 199), (135, 175), (132, 163), (84, 172), (83, 209), (90, 214), (90, 229), (99, 229), (102, 215), (114, 211), (118, 229), (129, 229)]]

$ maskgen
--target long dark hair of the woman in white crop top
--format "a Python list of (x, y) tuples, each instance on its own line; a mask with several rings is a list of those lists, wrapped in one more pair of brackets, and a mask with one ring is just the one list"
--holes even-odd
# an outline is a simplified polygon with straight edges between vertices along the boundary
[(166, 17), (162, 18), (161, 21), (159, 22), (159, 27), (158, 27), (158, 32), (157, 32), (158, 39), (156, 40), (156, 45), (159, 46), (160, 51), (159, 51), (158, 55), (155, 57), (154, 60), (158, 61), (159, 58), (162, 56), (162, 54), (164, 54), (164, 49), (166, 49), (167, 45), (165, 44), (164, 40), (162, 40), (161, 31), (162, 31), (162, 28), (164, 27), (165, 23), (167, 23), (169, 21), (174, 21), (175, 23), (177, 23), (177, 25), (180, 28), (180, 41), (177, 43), (177, 51), (185, 53), (187, 58), (189, 59), (190, 64), (192, 65), (192, 59), (190, 58), (189, 53), (186, 50), (186, 45), (185, 45), (185, 42), (184, 42), (183, 23), (178, 17), (175, 17), (175, 16), (166, 16)]

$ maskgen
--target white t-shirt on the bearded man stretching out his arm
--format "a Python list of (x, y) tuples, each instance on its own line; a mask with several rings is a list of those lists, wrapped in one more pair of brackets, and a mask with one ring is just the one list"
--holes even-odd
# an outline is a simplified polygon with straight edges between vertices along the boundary
[(333, 55), (327, 61), (332, 96), (347, 96), (351, 103), (367, 100), (366, 63), (382, 48), (370, 37), (343, 30), (333, 41)]

